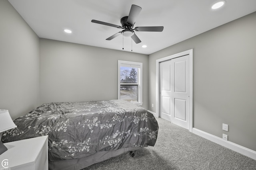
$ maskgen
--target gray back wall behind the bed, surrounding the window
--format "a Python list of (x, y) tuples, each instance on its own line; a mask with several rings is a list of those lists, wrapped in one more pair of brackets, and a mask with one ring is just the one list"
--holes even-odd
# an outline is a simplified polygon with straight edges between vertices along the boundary
[(148, 55), (40, 39), (40, 104), (117, 99), (118, 60), (143, 63), (148, 108)]

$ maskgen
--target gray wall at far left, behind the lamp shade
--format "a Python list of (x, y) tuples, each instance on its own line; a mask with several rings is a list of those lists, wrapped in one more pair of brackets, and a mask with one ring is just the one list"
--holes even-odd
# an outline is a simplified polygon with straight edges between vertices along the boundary
[(15, 119), (39, 104), (39, 38), (0, 0), (0, 109)]

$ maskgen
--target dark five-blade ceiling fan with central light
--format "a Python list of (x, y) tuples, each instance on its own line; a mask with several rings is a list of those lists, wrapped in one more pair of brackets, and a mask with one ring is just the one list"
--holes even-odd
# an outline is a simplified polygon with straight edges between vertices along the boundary
[(125, 16), (123, 18), (121, 18), (121, 24), (122, 27), (119, 25), (115, 25), (112, 23), (106, 23), (106, 22), (102, 22), (102, 21), (97, 21), (97, 20), (92, 20), (93, 23), (99, 23), (102, 25), (108, 25), (111, 27), (116, 27), (116, 28), (121, 28), (124, 29), (110, 37), (108, 37), (106, 40), (111, 40), (114, 39), (115, 37), (117, 37), (118, 35), (123, 35), (125, 37), (131, 37), (132, 40), (138, 44), (140, 43), (140, 39), (138, 38), (138, 36), (134, 33), (134, 31), (156, 31), (156, 32), (162, 32), (164, 27), (163, 26), (156, 26), (156, 27), (135, 27), (133, 29), (134, 23), (136, 18), (138, 17), (138, 15), (140, 14), (140, 11), (142, 10), (141, 7), (137, 6), (137, 5), (132, 5), (131, 9), (130, 9), (130, 13), (129, 16)]

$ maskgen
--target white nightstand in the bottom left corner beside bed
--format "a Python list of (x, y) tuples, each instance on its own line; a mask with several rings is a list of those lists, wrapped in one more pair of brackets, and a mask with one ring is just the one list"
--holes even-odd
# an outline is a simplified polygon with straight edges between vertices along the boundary
[(0, 170), (48, 170), (48, 136), (4, 143)]

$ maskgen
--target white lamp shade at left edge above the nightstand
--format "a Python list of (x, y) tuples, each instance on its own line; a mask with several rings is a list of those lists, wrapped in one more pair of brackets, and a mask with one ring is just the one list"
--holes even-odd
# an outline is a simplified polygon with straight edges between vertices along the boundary
[(9, 114), (8, 110), (0, 109), (0, 133), (17, 127)]

